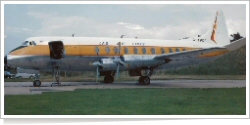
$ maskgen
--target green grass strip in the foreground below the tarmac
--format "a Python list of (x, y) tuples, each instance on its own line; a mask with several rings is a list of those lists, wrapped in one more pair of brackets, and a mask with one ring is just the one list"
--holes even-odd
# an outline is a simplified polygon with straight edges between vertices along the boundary
[(246, 88), (83, 89), (4, 96), (5, 115), (245, 115)]

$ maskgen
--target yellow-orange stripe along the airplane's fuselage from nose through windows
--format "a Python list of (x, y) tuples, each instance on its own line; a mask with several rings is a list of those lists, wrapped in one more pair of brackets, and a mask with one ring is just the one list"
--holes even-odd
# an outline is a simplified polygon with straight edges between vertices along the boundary
[[(98, 47), (99, 52), (97, 53), (96, 47)], [(162, 54), (162, 50), (164, 50), (164, 54), (170, 53), (170, 48), (173, 53), (178, 51), (189, 51), (189, 50), (197, 50), (200, 48), (187, 48), (187, 47), (160, 47), (160, 46), (121, 46), (121, 53), (115, 52), (115, 47), (117, 46), (103, 46), (103, 45), (65, 45), (65, 52), (67, 56), (119, 56), (124, 54), (135, 54), (134, 48), (137, 48), (137, 54), (152, 55), (154, 54), (151, 50), (154, 48), (155, 54)], [(107, 49), (109, 48), (109, 53)], [(125, 53), (125, 48), (127, 48), (128, 53)], [(32, 47), (25, 47), (19, 50), (16, 50), (11, 53), (11, 55), (38, 55), (38, 56), (50, 56), (50, 49), (48, 45), (37, 45)]]

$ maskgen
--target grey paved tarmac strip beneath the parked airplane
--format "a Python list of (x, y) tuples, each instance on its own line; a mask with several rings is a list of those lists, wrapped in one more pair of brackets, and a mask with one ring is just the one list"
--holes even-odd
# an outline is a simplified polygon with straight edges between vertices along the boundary
[(42, 94), (43, 92), (74, 91), (76, 89), (132, 89), (132, 88), (242, 88), (246, 80), (152, 80), (150, 85), (136, 82), (62, 82), (62, 86), (51, 87), (51, 82), (42, 82), (33, 87), (32, 82), (5, 82), (4, 95)]

